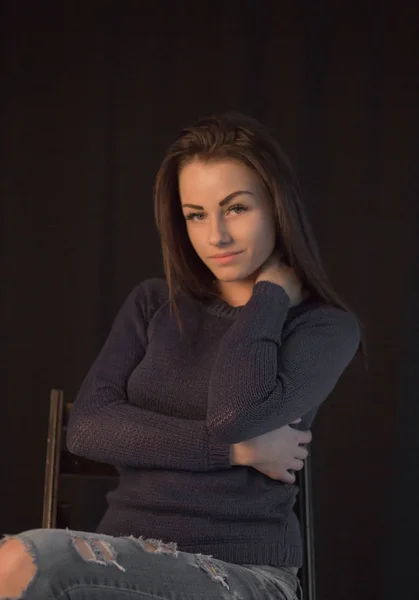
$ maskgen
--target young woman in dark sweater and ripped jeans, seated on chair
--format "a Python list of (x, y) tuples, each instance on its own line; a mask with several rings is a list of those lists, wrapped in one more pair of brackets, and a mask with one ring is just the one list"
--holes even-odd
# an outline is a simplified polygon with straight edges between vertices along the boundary
[(0, 597), (296, 597), (294, 471), (359, 323), (323, 270), (286, 156), (255, 120), (184, 129), (155, 212), (166, 279), (129, 294), (68, 431), (69, 449), (115, 465), (119, 485), (95, 534), (4, 540)]

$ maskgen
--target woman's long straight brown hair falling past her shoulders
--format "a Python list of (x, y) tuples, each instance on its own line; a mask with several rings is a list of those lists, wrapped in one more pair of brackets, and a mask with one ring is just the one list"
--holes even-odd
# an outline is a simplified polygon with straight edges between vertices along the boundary
[[(228, 112), (199, 119), (182, 129), (170, 146), (157, 173), (154, 210), (169, 286), (170, 305), (176, 313), (176, 296), (183, 291), (198, 300), (216, 295), (214, 276), (196, 254), (182, 214), (178, 175), (195, 158), (204, 161), (232, 159), (255, 171), (274, 203), (277, 245), (282, 259), (291, 266), (313, 300), (353, 311), (334, 290), (324, 270), (300, 187), (288, 157), (269, 131), (254, 118)], [(358, 320), (359, 322), (359, 320)], [(362, 354), (366, 345), (361, 329)]]

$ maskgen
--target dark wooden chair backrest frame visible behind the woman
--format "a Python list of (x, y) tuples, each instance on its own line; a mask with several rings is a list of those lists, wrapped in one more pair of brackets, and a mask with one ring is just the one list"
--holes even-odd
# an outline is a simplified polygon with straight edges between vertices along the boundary
[[(62, 390), (51, 390), (47, 452), (45, 461), (44, 507), (42, 517), (43, 528), (57, 526), (57, 512), (59, 508), (59, 481), (60, 474), (72, 473), (91, 476), (97, 480), (99, 477), (115, 479), (118, 473), (110, 465), (103, 465), (93, 461), (70, 455), (65, 446), (65, 430), (71, 412), (71, 403), (64, 402)], [(305, 460), (305, 466), (298, 472), (297, 483), (299, 494), (295, 505), (295, 512), (300, 521), (304, 543), (304, 564), (300, 569), (299, 578), (305, 600), (315, 600), (315, 569), (314, 569), (314, 532), (313, 532), (313, 502), (312, 502), (312, 473), (310, 456)], [(109, 487), (106, 483), (105, 487)], [(67, 523), (58, 523), (67, 526)]]

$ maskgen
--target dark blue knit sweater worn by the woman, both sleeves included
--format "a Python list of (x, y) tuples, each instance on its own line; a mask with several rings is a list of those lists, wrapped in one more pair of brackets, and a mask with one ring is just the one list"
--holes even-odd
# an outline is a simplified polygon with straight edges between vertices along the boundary
[(115, 465), (99, 531), (175, 541), (235, 563), (301, 566), (295, 485), (231, 466), (230, 444), (303, 417), (352, 360), (355, 317), (257, 283), (249, 302), (180, 300), (149, 279), (128, 296), (74, 404), (67, 444)]

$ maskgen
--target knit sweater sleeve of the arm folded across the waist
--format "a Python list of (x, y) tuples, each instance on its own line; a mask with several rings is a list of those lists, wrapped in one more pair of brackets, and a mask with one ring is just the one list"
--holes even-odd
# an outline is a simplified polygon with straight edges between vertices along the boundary
[(231, 468), (230, 445), (214, 441), (205, 421), (162, 415), (128, 402), (129, 376), (147, 347), (145, 295), (140, 284), (128, 296), (87, 374), (70, 414), (68, 449), (115, 466)]

